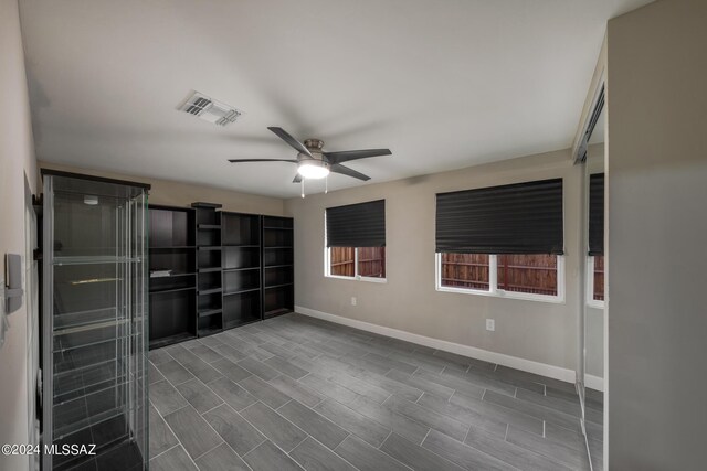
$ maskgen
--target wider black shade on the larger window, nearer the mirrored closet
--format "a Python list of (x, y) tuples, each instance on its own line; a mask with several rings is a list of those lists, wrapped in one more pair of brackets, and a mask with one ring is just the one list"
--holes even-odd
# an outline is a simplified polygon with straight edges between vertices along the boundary
[(437, 194), (439, 253), (561, 255), (563, 248), (562, 179)]

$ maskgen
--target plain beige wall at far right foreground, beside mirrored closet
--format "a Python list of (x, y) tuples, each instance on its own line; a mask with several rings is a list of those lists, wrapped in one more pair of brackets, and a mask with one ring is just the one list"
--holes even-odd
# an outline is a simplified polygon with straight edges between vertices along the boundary
[(609, 22), (609, 460), (703, 470), (707, 2)]

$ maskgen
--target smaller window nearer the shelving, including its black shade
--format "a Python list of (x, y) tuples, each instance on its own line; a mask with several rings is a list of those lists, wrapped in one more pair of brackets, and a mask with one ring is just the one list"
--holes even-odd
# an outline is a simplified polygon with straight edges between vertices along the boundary
[(327, 208), (325, 251), (325, 276), (384, 281), (384, 200)]

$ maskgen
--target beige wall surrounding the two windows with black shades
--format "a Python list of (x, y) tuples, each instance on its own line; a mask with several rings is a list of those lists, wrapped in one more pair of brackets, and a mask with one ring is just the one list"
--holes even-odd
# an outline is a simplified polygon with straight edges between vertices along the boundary
[[(435, 290), (435, 193), (558, 176), (564, 179), (564, 303)], [(285, 210), (295, 217), (296, 304), (576, 370), (581, 176), (570, 151), (563, 150), (288, 200)], [(388, 282), (325, 278), (325, 208), (377, 199), (386, 199)], [(358, 306), (351, 306), (351, 297)], [(486, 318), (496, 320), (495, 332), (485, 330)]]

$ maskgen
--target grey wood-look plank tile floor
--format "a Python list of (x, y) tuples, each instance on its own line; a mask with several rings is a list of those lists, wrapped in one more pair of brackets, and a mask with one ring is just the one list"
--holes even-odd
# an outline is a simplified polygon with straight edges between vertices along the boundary
[(395, 339), (287, 314), (149, 357), (152, 470), (590, 469), (572, 384)]

